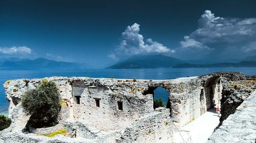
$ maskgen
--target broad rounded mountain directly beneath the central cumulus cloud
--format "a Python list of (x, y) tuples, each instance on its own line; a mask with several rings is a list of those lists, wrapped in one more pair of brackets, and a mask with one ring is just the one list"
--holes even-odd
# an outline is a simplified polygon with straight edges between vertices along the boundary
[(108, 69), (168, 68), (184, 61), (165, 55), (134, 55), (129, 59), (108, 67)]

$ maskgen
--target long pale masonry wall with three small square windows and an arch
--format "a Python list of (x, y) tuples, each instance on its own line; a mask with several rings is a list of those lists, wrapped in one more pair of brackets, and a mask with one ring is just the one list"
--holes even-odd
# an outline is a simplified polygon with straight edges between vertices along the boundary
[[(169, 92), (170, 116), (177, 124), (174, 129), (183, 126), (192, 118), (200, 116), (202, 81), (196, 77), (153, 81), (83, 77), (51, 77), (47, 79), (57, 84), (61, 99), (67, 101), (66, 108), (69, 111), (66, 112), (64, 119), (69, 117), (68, 119), (88, 121), (104, 131), (124, 129), (127, 124), (152, 112), (154, 110), (153, 96), (151, 94), (143, 95), (150, 87), (163, 87)], [(12, 99), (20, 100), (22, 94), (37, 87), (40, 82), (41, 79), (18, 79), (5, 83), (6, 96), (10, 102), (10, 118), (16, 117), (17, 111), (15, 113), (12, 111), (19, 105), (19, 103), (14, 105)], [(13, 92), (13, 89), (17, 89), (17, 92)], [(79, 97), (80, 104), (77, 104), (77, 97)], [(95, 99), (99, 99), (100, 107), (96, 107)], [(118, 109), (117, 102), (122, 102), (123, 110)], [(17, 107), (16, 110), (26, 117), (22, 108)], [(17, 118), (23, 123), (17, 130), (23, 129), (29, 118), (22, 118), (20, 115)], [(16, 127), (15, 124), (13, 123), (14, 126), (11, 126), (13, 129)]]

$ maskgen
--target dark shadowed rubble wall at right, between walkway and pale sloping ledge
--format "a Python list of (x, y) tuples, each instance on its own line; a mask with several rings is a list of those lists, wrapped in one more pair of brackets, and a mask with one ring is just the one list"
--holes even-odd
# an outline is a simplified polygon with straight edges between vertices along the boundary
[(221, 118), (219, 127), (229, 115), (236, 112), (237, 107), (256, 89), (256, 76), (243, 75), (239, 72), (217, 72), (202, 75), (199, 78), (207, 80), (211, 77), (221, 77)]

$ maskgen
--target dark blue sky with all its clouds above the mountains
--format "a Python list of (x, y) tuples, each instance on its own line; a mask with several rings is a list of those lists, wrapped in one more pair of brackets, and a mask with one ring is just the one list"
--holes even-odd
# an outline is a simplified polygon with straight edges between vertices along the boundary
[(256, 54), (255, 17), (256, 1), (1, 1), (0, 57), (95, 67), (134, 54), (244, 58)]

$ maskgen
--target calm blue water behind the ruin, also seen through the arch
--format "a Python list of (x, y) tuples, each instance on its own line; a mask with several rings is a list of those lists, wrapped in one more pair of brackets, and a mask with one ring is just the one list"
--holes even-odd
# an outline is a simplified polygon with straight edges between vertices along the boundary
[[(242, 72), (246, 75), (255, 75), (256, 68), (159, 68), (159, 69), (95, 69), (95, 70), (0, 70), (0, 114), (7, 114), (8, 101), (5, 99), (3, 84), (7, 80), (17, 78), (44, 78), (50, 76), (84, 76), (84, 77), (114, 77), (136, 79), (174, 79), (177, 77), (199, 76), (219, 71)], [(155, 90), (155, 98), (163, 98), (167, 101), (166, 91)]]

